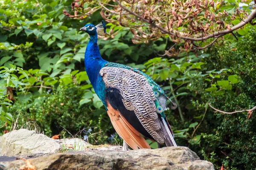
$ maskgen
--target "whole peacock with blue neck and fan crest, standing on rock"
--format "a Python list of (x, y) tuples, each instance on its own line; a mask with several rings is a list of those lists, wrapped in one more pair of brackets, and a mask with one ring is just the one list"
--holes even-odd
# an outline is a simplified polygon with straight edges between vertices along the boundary
[(84, 54), (87, 76), (124, 144), (134, 150), (150, 149), (145, 136), (158, 144), (177, 146), (163, 113), (167, 98), (163, 89), (138, 68), (102, 59), (97, 31), (106, 32), (103, 21), (96, 26), (87, 24), (80, 30), (90, 36)]

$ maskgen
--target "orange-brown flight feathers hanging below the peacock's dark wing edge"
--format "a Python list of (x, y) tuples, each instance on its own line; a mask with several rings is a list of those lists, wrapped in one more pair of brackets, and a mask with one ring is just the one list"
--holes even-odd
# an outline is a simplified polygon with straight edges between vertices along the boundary
[(116, 132), (121, 136), (121, 138), (134, 150), (139, 148), (148, 148), (148, 142), (143, 138), (143, 136), (131, 126), (129, 122), (117, 111), (112, 108), (112, 106), (107, 101), (108, 116), (110, 117), (111, 123), (115, 128)]

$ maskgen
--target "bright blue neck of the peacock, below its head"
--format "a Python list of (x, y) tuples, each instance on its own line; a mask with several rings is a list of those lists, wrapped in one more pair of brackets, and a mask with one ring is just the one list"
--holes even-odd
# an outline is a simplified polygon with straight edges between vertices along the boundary
[(99, 47), (97, 45), (97, 33), (90, 35), (90, 40), (87, 44), (84, 54), (84, 65), (87, 75), (95, 92), (98, 91), (98, 77), (99, 71), (107, 61), (102, 59), (99, 53)]

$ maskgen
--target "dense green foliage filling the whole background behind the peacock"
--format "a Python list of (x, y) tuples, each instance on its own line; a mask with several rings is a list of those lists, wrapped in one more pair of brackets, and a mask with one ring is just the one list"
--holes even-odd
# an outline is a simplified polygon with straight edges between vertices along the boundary
[[(102, 17), (98, 11), (84, 20), (66, 17), (62, 11), (71, 11), (72, 2), (0, 1), (0, 135), (11, 130), (12, 122), (19, 127), (35, 122), (50, 137), (70, 137), (68, 130), (91, 144), (122, 144), (84, 70), (89, 39), (79, 28), (98, 24)], [(133, 44), (129, 28), (107, 27), (115, 35), (99, 39), (102, 57), (145, 71), (177, 103), (175, 110), (168, 103), (165, 113), (178, 145), (217, 169), (256, 167), (255, 116), (215, 113), (208, 104), (223, 111), (256, 105), (256, 26), (235, 31), (238, 41), (226, 35), (203, 51), (172, 57), (161, 56), (174, 44), (168, 37)]]

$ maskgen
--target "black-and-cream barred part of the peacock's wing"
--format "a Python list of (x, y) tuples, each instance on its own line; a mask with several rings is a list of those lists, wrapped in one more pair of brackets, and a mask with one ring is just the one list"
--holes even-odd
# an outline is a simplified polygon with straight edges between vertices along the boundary
[(164, 143), (164, 133), (155, 105), (156, 97), (146, 77), (132, 70), (117, 67), (103, 67), (100, 75), (106, 89), (119, 91), (125, 109), (134, 112), (152, 138)]

